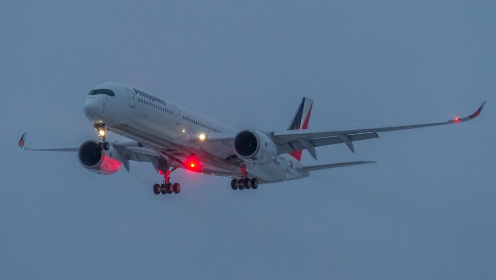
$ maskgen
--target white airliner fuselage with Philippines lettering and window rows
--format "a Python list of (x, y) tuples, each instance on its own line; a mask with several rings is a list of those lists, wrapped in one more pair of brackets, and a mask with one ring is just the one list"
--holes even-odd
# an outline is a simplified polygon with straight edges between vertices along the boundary
[[(194, 156), (201, 162), (197, 172), (234, 178), (241, 175), (232, 159), (213, 156), (191, 140), (194, 134), (234, 135), (239, 130), (126, 84), (106, 82), (94, 89), (109, 89), (114, 96), (88, 95), (84, 111), (92, 123), (106, 124), (110, 131), (154, 148), (170, 161), (184, 163)], [(308, 176), (308, 172), (300, 171), (301, 163), (289, 154), (278, 155), (268, 164), (246, 165), (250, 177), (260, 183)]]

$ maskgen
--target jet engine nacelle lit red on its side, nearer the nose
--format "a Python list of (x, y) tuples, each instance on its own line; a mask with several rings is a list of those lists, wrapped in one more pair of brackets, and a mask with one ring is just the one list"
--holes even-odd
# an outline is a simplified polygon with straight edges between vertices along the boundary
[(112, 145), (108, 151), (102, 150), (96, 140), (82, 143), (77, 158), (84, 168), (99, 174), (115, 173), (122, 164), (121, 155)]

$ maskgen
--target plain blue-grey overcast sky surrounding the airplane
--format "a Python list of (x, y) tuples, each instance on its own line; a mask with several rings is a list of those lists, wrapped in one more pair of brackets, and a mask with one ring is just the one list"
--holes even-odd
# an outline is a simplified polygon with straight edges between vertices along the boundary
[[(415, 3), (412, 3), (415, 2)], [(495, 279), (495, 1), (1, 1), (0, 279)], [(237, 128), (445, 121), (317, 149), (378, 163), (233, 191), (75, 153), (120, 81)], [(110, 136), (116, 140), (116, 136)], [(307, 152), (303, 161), (316, 164)]]

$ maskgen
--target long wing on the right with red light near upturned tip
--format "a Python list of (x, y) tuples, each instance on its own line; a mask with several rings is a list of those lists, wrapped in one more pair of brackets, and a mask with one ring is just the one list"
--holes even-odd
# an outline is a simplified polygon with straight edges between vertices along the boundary
[(338, 143), (345, 143), (348, 148), (355, 152), (353, 146), (354, 141), (378, 138), (377, 133), (406, 130), (414, 128), (425, 128), (441, 125), (449, 125), (456, 123), (463, 123), (475, 119), (481, 113), (486, 102), (482, 103), (481, 107), (472, 115), (465, 118), (456, 118), (438, 123), (421, 124), (421, 125), (407, 125), (396, 127), (377, 127), (358, 130), (285, 130), (272, 133), (272, 139), (278, 144), (278, 153), (289, 153), (296, 150), (307, 149), (313, 158), (317, 159), (315, 147), (323, 145), (331, 145)]

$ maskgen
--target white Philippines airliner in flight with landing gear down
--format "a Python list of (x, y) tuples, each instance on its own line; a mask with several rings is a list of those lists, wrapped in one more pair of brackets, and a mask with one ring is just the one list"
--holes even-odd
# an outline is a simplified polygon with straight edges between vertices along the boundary
[[(316, 147), (344, 143), (353, 153), (353, 142), (378, 138), (378, 133), (457, 124), (475, 119), (484, 102), (472, 115), (444, 122), (395, 127), (336, 131), (308, 129), (313, 100), (304, 97), (287, 130), (236, 130), (169, 100), (117, 82), (95, 86), (84, 102), (84, 113), (100, 140), (87, 140), (79, 147), (30, 148), (26, 133), (19, 140), (23, 150), (77, 152), (79, 163), (98, 174), (112, 174), (129, 161), (150, 162), (163, 176), (153, 185), (154, 194), (179, 194), (181, 185), (171, 182), (178, 168), (232, 178), (233, 190), (257, 189), (258, 184), (308, 177), (310, 171), (373, 163), (353, 161), (306, 166), (302, 150), (316, 160)], [(108, 142), (116, 133), (129, 140)]]

